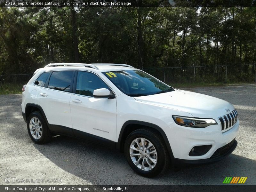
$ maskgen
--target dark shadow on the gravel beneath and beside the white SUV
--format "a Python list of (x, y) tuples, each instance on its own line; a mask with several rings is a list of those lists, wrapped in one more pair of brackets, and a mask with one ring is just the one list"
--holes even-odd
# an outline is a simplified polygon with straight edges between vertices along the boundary
[(132, 171), (123, 153), (98, 144), (59, 136), (34, 146), (61, 169), (95, 185), (221, 185), (226, 176), (248, 177), (246, 184), (256, 184), (256, 161), (234, 154), (214, 164), (144, 178)]

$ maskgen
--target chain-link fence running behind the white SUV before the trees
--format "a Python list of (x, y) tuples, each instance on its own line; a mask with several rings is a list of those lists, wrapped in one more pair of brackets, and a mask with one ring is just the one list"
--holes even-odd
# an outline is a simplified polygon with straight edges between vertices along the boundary
[[(236, 83), (256, 82), (256, 63), (143, 69), (165, 83)], [(0, 75), (0, 85), (27, 84), (33, 74)]]

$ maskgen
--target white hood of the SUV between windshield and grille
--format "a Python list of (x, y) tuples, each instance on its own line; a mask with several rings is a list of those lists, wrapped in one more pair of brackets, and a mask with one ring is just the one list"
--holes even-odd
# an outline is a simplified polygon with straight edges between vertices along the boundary
[[(194, 117), (217, 118), (232, 111), (229, 102), (212, 96), (177, 90), (167, 93), (134, 97), (135, 100), (190, 113)], [(174, 114), (175, 115), (175, 114)]]

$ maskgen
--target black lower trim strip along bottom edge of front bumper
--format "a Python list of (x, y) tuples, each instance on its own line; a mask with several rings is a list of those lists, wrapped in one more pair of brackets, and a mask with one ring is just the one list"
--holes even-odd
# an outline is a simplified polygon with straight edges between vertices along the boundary
[(223, 155), (220, 156), (214, 156), (214, 157), (210, 157), (208, 159), (198, 159), (198, 160), (185, 160), (185, 159), (177, 159), (174, 158), (172, 163), (174, 166), (183, 166), (183, 165), (191, 165), (191, 164), (211, 164), (211, 163), (215, 163), (218, 162), (224, 158), (226, 158), (230, 153), (232, 153), (235, 148), (237, 146), (237, 141), (235, 140), (234, 144), (232, 145), (232, 147)]

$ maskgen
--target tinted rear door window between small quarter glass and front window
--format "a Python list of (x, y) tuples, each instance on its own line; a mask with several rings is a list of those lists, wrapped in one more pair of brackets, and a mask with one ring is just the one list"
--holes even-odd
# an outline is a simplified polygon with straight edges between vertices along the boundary
[(73, 71), (53, 71), (49, 80), (48, 88), (70, 92)]

